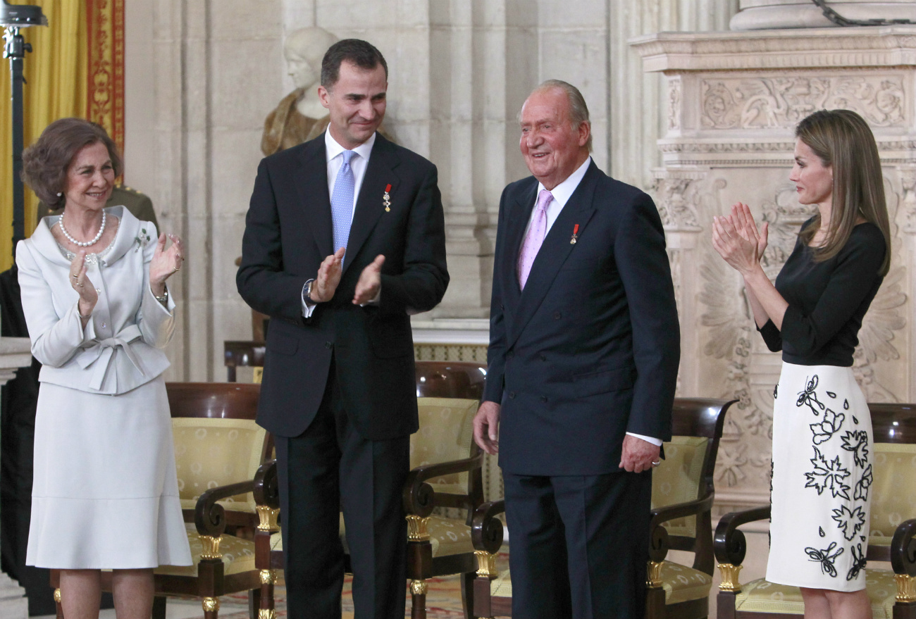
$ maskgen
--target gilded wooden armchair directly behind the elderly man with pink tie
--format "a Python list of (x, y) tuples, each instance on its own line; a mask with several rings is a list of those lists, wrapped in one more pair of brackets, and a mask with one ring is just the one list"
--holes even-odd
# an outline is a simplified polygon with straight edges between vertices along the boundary
[[(715, 457), (725, 412), (735, 401), (695, 397), (674, 401), (673, 437), (664, 444), (665, 460), (652, 472), (647, 619), (700, 619), (709, 614)], [(503, 541), (497, 516), (504, 510), (503, 501), (485, 503), (472, 522), (478, 561), (474, 617), (512, 616), (511, 576), (508, 570), (496, 571), (496, 553)], [(671, 549), (692, 552), (692, 566), (666, 560)]]

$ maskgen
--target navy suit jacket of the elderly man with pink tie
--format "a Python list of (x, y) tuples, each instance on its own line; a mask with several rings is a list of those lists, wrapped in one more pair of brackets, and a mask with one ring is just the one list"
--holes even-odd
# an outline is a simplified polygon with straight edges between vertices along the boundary
[(681, 348), (659, 213), (593, 162), (521, 291), (537, 188), (518, 180), (499, 206), (485, 389), (502, 405), (499, 463), (518, 474), (616, 472), (627, 432), (671, 439)]

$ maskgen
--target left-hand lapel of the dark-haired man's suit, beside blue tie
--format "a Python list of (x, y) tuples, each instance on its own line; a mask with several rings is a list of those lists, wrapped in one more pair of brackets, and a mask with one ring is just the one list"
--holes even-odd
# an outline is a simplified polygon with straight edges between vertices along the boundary
[(293, 172), (293, 179), (303, 205), (304, 221), (311, 229), (321, 255), (332, 255), (331, 196), (328, 194), (328, 162), (323, 134), (303, 148), (300, 166)]

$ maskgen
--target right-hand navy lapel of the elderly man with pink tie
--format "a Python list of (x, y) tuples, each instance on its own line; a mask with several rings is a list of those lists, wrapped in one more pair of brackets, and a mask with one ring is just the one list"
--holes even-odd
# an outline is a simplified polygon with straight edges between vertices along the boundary
[[(575, 250), (576, 244), (570, 242), (575, 226), (578, 224), (578, 235), (582, 237), (586, 225), (592, 219), (595, 212), (593, 197), (597, 181), (596, 174), (597, 168), (593, 161), (579, 186), (563, 206), (563, 210), (551, 226), (551, 231), (544, 237), (544, 243), (540, 245), (534, 264), (531, 265), (528, 281), (525, 282), (525, 289), (518, 300), (518, 311), (512, 318), (512, 327), (507, 330), (507, 346), (511, 346), (518, 339), (518, 335), (538, 310), (544, 297), (547, 296), (563, 263)], [(532, 196), (531, 201), (533, 200)], [(513, 261), (518, 262), (518, 247), (513, 255)], [(515, 267), (513, 266), (514, 272)], [(516, 277), (516, 288), (518, 288), (518, 277)]]

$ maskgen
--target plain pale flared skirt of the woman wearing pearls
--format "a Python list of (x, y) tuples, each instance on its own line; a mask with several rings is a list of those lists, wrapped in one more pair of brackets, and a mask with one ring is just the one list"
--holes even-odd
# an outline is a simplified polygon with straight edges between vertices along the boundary
[(27, 565), (190, 565), (162, 377), (120, 396), (42, 383)]

